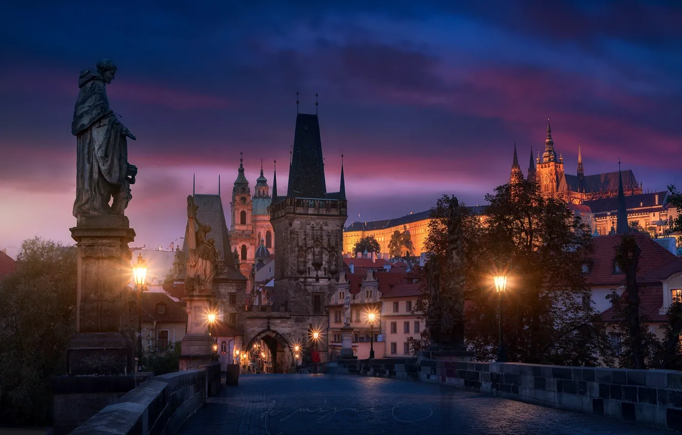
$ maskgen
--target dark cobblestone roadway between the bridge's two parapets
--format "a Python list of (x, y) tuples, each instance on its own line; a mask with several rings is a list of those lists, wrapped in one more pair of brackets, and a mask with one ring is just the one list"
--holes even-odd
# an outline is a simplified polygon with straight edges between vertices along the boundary
[(449, 387), (347, 374), (252, 374), (179, 434), (670, 434)]

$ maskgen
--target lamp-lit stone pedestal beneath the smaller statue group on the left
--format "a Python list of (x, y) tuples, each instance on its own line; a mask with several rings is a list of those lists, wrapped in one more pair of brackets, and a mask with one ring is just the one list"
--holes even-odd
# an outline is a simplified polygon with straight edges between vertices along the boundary
[(193, 370), (213, 359), (213, 338), (207, 314), (213, 295), (187, 295), (187, 333), (182, 339), (180, 370)]

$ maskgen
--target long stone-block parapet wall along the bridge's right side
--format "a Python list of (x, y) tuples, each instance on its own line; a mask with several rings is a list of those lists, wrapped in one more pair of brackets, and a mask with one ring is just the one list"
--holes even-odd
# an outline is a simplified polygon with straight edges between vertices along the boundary
[(578, 413), (682, 430), (682, 372), (413, 359), (334, 361), (335, 372), (421, 380)]

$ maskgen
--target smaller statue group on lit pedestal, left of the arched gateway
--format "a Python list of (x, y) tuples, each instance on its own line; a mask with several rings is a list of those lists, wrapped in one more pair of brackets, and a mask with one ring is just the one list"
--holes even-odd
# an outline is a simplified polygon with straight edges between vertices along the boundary
[[(187, 293), (206, 295), (213, 293), (213, 262), (218, 259), (216, 241), (207, 239), (211, 226), (203, 225), (196, 218), (192, 195), (187, 197), (187, 244), (188, 256), (185, 271)], [(196, 229), (198, 227), (198, 229)]]

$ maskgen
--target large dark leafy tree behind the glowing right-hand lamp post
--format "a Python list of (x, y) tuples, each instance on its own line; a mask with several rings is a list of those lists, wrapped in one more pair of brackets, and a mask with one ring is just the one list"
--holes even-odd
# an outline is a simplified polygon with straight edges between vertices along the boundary
[[(425, 243), (432, 252), (429, 261), (441, 265), (447, 264), (448, 200), (441, 198), (432, 209)], [(606, 327), (593, 310), (582, 273), (592, 252), (587, 224), (565, 201), (546, 198), (526, 180), (499, 186), (486, 200), (490, 205), (481, 217), (462, 209), (465, 340), (475, 358), (490, 361), (496, 355), (498, 301), (492, 275), (505, 273), (503, 329), (509, 361), (590, 366), (612, 361)], [(421, 299), (422, 305), (415, 304), (419, 311), (428, 308), (428, 295)]]

